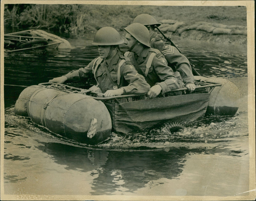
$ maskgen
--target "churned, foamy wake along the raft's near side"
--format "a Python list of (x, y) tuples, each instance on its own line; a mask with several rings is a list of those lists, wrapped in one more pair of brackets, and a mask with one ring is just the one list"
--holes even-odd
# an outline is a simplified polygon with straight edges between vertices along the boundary
[[(153, 128), (134, 131), (122, 135), (112, 132), (110, 138), (98, 145), (85, 145), (70, 140), (48, 129), (33, 123), (29, 117), (14, 115), (14, 107), (5, 110), (5, 140), (17, 135), (33, 135), (39, 141), (48, 141), (72, 146), (116, 150), (154, 150), (186, 147), (215, 147), (216, 143), (237, 140), (248, 136), (247, 113), (241, 112), (235, 116), (208, 116), (191, 123), (176, 132), (169, 130), (170, 122), (161, 123)], [(230, 128), (233, 128), (231, 130)]]

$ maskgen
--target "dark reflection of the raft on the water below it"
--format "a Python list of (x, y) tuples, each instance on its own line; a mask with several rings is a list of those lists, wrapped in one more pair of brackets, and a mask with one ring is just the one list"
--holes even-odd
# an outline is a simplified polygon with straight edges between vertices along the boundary
[(151, 180), (172, 179), (180, 175), (187, 153), (201, 153), (203, 149), (169, 149), (142, 152), (92, 150), (70, 145), (47, 143), (37, 147), (52, 155), (55, 163), (67, 170), (92, 171), (93, 195), (111, 194), (122, 185), (126, 191), (144, 187)]

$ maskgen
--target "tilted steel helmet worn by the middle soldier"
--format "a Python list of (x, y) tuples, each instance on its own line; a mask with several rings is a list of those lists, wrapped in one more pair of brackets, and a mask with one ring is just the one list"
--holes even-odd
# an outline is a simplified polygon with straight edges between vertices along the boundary
[(150, 48), (150, 35), (146, 26), (140, 23), (132, 23), (126, 26), (124, 30), (130, 33), (137, 41)]

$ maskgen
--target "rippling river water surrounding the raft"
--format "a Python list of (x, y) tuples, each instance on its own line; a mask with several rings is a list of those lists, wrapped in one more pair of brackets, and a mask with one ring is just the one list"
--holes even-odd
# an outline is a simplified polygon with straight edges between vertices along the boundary
[(97, 57), (97, 48), (77, 44), (71, 41), (70, 51), (34, 50), (4, 56), (5, 195), (16, 199), (105, 196), (101, 200), (113, 195), (249, 195), (246, 49), (179, 42), (202, 76), (226, 78), (238, 86), (241, 104), (235, 116), (205, 117), (175, 133), (163, 126), (133, 136), (112, 133), (108, 141), (89, 146), (14, 115), (24, 86), (47, 82)]

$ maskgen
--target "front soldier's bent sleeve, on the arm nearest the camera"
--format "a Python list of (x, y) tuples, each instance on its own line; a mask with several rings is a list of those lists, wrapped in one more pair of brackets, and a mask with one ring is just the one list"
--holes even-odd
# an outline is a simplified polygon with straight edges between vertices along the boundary
[(145, 78), (135, 70), (134, 66), (129, 61), (126, 61), (121, 66), (121, 75), (129, 83), (128, 86), (122, 86), (125, 91), (124, 94), (142, 94), (147, 93), (150, 89)]

